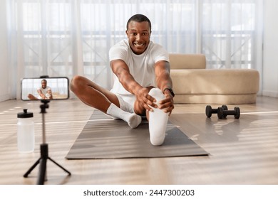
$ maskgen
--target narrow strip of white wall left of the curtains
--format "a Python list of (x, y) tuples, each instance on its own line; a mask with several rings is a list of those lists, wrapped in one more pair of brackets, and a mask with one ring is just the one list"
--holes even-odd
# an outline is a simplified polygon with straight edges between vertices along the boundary
[(10, 99), (6, 1), (0, 0), (0, 102)]

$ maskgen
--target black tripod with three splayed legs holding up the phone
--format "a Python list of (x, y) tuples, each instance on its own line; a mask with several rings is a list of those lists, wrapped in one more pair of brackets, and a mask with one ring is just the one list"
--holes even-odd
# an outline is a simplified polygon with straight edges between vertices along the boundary
[(71, 176), (71, 172), (69, 172), (68, 170), (66, 170), (66, 168), (63, 168), (63, 166), (56, 163), (56, 161), (53, 161), (53, 159), (51, 159), (50, 157), (48, 157), (48, 144), (46, 144), (46, 124), (44, 120), (44, 114), (46, 113), (46, 109), (49, 107), (48, 102), (50, 101), (48, 99), (42, 99), (41, 102), (43, 103), (41, 104), (41, 114), (43, 118), (43, 122), (42, 122), (43, 123), (43, 143), (41, 144), (41, 157), (38, 158), (38, 160), (34, 163), (34, 165), (31, 166), (31, 168), (29, 168), (29, 170), (24, 174), (24, 178), (27, 178), (29, 173), (31, 173), (31, 171), (33, 171), (33, 169), (38, 165), (38, 163), (40, 163), (40, 167), (38, 171), (38, 181), (37, 181), (38, 185), (43, 185), (45, 181), (47, 160), (52, 161), (53, 163), (56, 164), (56, 166), (62, 168), (63, 171), (66, 171), (66, 173), (68, 173), (68, 176)]

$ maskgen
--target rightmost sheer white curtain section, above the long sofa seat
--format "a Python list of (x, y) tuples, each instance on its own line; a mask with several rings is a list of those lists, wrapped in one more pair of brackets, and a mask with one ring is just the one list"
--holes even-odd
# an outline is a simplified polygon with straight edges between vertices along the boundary
[(262, 1), (202, 1), (202, 53), (210, 68), (262, 69)]

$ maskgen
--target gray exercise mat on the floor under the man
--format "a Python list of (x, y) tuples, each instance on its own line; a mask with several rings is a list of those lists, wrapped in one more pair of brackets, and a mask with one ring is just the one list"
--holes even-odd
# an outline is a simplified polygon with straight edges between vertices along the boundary
[[(158, 124), (159, 125), (159, 124)], [(68, 152), (67, 159), (155, 158), (206, 156), (180, 129), (168, 122), (163, 145), (150, 144), (148, 121), (136, 129), (120, 119), (111, 119), (96, 110)]]

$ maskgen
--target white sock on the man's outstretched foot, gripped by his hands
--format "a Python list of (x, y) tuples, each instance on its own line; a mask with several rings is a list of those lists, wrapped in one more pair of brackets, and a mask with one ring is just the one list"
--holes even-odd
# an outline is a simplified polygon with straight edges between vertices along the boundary
[[(151, 89), (149, 95), (156, 99), (157, 104), (165, 99), (165, 95), (158, 88)], [(163, 109), (153, 107), (153, 112), (149, 112), (150, 143), (154, 146), (159, 146), (164, 142), (168, 117), (169, 114), (163, 112)]]

